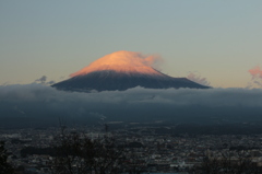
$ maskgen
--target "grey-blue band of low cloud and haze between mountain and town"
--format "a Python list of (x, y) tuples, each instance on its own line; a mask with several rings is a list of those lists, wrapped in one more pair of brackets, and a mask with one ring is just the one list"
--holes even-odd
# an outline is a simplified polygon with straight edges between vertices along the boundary
[[(261, 89), (134, 88), (127, 91), (79, 93), (43, 84), (0, 86), (0, 126), (32, 125), (58, 118), (96, 121), (176, 120), (205, 124), (261, 121)], [(38, 121), (39, 123), (39, 121)], [(34, 126), (34, 125), (33, 125)]]

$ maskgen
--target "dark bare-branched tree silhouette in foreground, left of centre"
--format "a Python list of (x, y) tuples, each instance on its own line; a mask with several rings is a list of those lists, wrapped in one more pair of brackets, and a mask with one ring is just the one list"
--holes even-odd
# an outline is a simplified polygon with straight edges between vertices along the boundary
[[(56, 156), (51, 161), (51, 171), (56, 174), (134, 173), (124, 156), (126, 146), (116, 143), (108, 136), (91, 139), (84, 132), (70, 132), (62, 127), (53, 148)], [(135, 174), (140, 173), (135, 169)]]

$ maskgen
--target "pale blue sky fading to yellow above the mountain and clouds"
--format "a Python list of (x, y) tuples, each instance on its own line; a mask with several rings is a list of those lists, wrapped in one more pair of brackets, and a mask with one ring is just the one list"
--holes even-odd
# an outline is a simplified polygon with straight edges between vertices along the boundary
[(246, 88), (262, 63), (261, 9), (261, 0), (2, 0), (0, 85), (60, 81), (130, 50), (160, 55), (172, 77), (193, 72), (212, 86)]

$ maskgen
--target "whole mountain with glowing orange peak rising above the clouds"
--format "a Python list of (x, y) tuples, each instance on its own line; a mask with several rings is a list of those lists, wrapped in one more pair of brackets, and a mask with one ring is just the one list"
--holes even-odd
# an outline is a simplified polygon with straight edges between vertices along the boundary
[(124, 50), (112, 53), (52, 86), (58, 90), (80, 92), (124, 91), (135, 86), (209, 89), (187, 78), (172, 78), (155, 70), (152, 66), (156, 60), (155, 56), (146, 57), (140, 53)]

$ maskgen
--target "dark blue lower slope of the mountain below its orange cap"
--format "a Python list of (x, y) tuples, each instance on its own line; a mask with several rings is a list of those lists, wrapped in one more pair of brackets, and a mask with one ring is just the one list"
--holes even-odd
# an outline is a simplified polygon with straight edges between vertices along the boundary
[(58, 90), (64, 91), (124, 91), (135, 86), (146, 89), (193, 88), (207, 89), (186, 78), (156, 77), (147, 74), (127, 74), (116, 71), (95, 71), (85, 76), (73, 77), (69, 80), (53, 84)]

